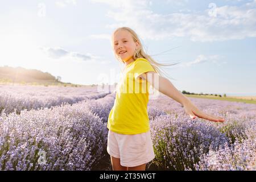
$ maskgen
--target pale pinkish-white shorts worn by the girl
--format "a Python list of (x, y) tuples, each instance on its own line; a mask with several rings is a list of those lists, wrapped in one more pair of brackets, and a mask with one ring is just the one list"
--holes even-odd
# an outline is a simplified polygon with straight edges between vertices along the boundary
[(155, 158), (150, 131), (123, 135), (109, 130), (107, 151), (125, 167), (140, 166)]

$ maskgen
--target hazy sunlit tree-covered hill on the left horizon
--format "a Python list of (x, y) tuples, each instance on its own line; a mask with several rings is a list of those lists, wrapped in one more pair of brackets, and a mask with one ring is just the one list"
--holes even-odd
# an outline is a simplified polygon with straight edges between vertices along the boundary
[(26, 69), (22, 67), (0, 67), (0, 82), (32, 83), (38, 84), (63, 84), (60, 77), (52, 76), (50, 73), (37, 69)]

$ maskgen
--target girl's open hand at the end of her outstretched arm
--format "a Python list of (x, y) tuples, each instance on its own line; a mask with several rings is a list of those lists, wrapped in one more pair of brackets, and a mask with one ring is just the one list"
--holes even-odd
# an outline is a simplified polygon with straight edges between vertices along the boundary
[(224, 122), (225, 121), (225, 119), (223, 119), (223, 118), (215, 117), (213, 115), (209, 115), (209, 114), (204, 113), (203, 111), (200, 111), (190, 101), (188, 101), (188, 102), (186, 102), (186, 104), (184, 104), (184, 109), (185, 109), (185, 112), (190, 116), (191, 119), (195, 119), (196, 117), (199, 117), (199, 118), (208, 119), (209, 121), (214, 121), (214, 122)]

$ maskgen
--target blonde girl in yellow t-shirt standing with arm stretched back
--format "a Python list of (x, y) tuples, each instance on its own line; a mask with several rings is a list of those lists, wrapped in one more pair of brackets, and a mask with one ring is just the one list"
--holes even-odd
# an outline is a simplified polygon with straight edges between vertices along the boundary
[[(113, 170), (145, 170), (146, 164), (155, 158), (147, 114), (148, 87), (144, 93), (141, 88), (144, 82), (149, 82), (159, 92), (183, 105), (185, 113), (190, 118), (199, 117), (224, 122), (222, 118), (197, 109), (167, 78), (163, 77), (159, 67), (164, 64), (156, 63), (143, 51), (141, 41), (131, 28), (117, 28), (112, 35), (112, 47), (115, 57), (125, 64), (123, 78), (118, 83), (107, 125), (107, 151)], [(139, 83), (139, 92), (134, 91), (134, 81)]]

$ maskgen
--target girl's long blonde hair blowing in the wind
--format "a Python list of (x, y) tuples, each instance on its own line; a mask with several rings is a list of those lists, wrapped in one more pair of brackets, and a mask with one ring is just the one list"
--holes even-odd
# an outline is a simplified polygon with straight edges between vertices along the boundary
[[(129, 27), (119, 27), (119, 28), (117, 28), (117, 29), (113, 32), (112, 36), (115, 34), (115, 32), (117, 32), (117, 31), (119, 31), (119, 30), (126, 30), (126, 31), (130, 32), (131, 36), (133, 37), (134, 42), (137, 42), (137, 41), (139, 42), (140, 47), (139, 47), (139, 49), (137, 49), (137, 51), (134, 52), (134, 55), (133, 55), (133, 59), (134, 59), (134, 60), (136, 60), (136, 59), (138, 59), (138, 58), (144, 58), (144, 59), (146, 59), (146, 60), (149, 61), (149, 63), (151, 64), (151, 66), (155, 69), (155, 71), (156, 71), (160, 76), (170, 78), (170, 77), (168, 76), (168, 74), (162, 70), (161, 67), (167, 67), (167, 66), (171, 66), (171, 65), (175, 65), (175, 64), (179, 64), (179, 63), (174, 63), (174, 64), (162, 64), (162, 63), (156, 62), (150, 55), (148, 55), (148, 54), (144, 51), (143, 46), (142, 46), (142, 43), (141, 43), (141, 40), (139, 39), (139, 36), (136, 34), (136, 32), (135, 32), (134, 30), (132, 30), (132, 29), (129, 28)], [(112, 43), (112, 45), (113, 45), (113, 43)], [(114, 54), (114, 55), (115, 55), (115, 57), (117, 58), (117, 60), (119, 60), (119, 61), (121, 61), (122, 63), (124, 63), (123, 60), (121, 60), (116, 54)]]

